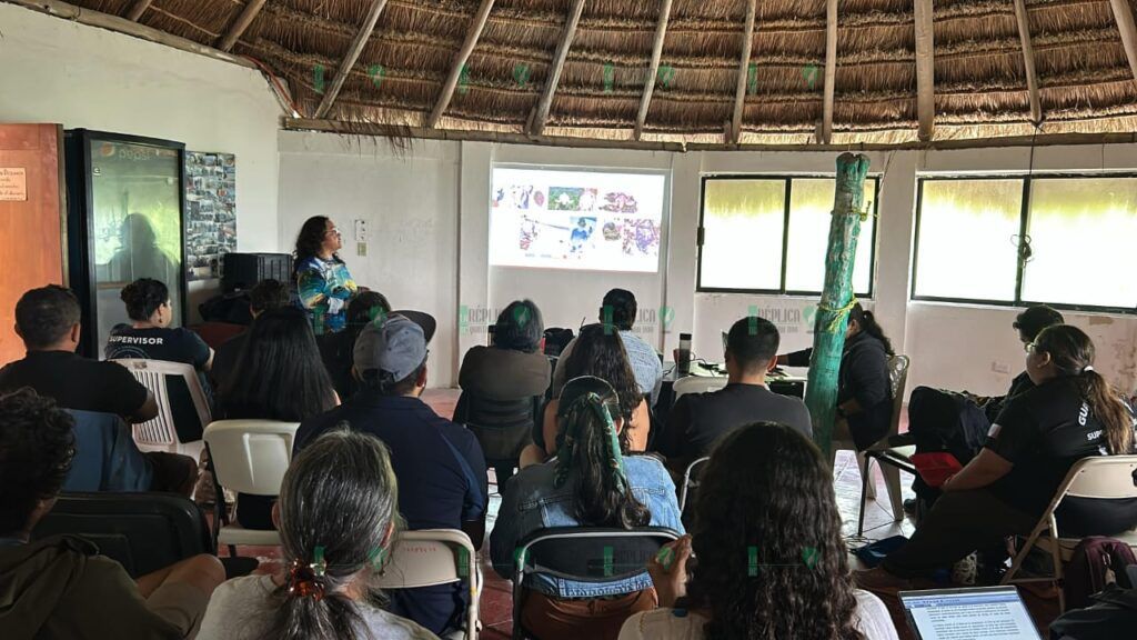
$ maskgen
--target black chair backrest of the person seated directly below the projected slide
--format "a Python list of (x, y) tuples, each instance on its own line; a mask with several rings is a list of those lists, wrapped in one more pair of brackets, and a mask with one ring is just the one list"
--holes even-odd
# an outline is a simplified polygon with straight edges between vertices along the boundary
[(498, 491), (513, 476), (521, 450), (532, 442), (539, 428), (540, 396), (516, 400), (492, 400), (463, 392), (454, 410), (454, 421), (466, 425), (485, 456), (485, 466), (495, 470)]

